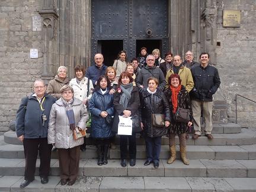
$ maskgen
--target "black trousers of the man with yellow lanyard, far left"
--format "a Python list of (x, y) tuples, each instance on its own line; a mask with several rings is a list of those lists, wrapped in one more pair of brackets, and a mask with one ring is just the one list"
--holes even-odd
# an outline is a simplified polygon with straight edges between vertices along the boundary
[(40, 177), (48, 177), (50, 171), (50, 155), (52, 152), (52, 145), (47, 143), (47, 137), (24, 139), (23, 146), (25, 154), (25, 180), (34, 180), (38, 151), (40, 157), (39, 175)]

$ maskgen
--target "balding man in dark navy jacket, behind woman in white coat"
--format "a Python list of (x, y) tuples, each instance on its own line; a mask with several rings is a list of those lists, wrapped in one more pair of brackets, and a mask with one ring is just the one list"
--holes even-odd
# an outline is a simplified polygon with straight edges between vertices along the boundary
[(103, 55), (101, 53), (96, 53), (94, 56), (94, 62), (95, 65), (90, 66), (87, 69), (87, 72), (85, 74), (85, 76), (88, 79), (91, 79), (92, 84), (94, 85), (94, 87), (97, 85), (97, 80), (101, 75), (105, 75), (105, 71), (107, 69), (107, 66), (105, 66), (103, 64)]

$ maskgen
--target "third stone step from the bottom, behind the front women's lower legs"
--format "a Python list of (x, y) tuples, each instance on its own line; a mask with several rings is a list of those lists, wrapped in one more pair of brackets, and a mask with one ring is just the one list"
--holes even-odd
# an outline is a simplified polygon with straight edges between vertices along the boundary
[[(180, 146), (176, 146), (177, 158), (180, 158)], [(81, 152), (81, 159), (97, 158), (97, 148), (94, 145), (87, 145), (87, 150)], [(57, 158), (57, 152), (52, 152), (52, 158)], [(137, 146), (137, 159), (146, 159), (146, 148), (144, 145)], [(239, 146), (187, 146), (187, 157), (189, 159), (256, 159), (256, 144)], [(0, 146), (0, 158), (24, 158), (23, 145), (4, 145)], [(110, 149), (110, 159), (120, 159), (120, 148)], [(169, 146), (162, 145), (160, 159), (169, 158)]]

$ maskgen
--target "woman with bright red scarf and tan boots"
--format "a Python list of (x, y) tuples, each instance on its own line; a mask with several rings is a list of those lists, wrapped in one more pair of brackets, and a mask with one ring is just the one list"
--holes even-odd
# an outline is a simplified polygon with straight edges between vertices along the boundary
[[(181, 160), (185, 165), (189, 165), (189, 161), (186, 157), (185, 133), (193, 122), (190, 97), (185, 87), (181, 85), (181, 79), (178, 74), (172, 74), (169, 76), (168, 84), (170, 86), (165, 89), (165, 95), (169, 100), (171, 110), (171, 125), (169, 129), (169, 148), (171, 157), (168, 159), (167, 163), (172, 164), (172, 162), (174, 162), (176, 159), (175, 135), (178, 135), (180, 139)], [(175, 113), (177, 112), (177, 108), (186, 108), (190, 110), (190, 121), (188, 121), (188, 123), (180, 123), (175, 121), (174, 117)]]

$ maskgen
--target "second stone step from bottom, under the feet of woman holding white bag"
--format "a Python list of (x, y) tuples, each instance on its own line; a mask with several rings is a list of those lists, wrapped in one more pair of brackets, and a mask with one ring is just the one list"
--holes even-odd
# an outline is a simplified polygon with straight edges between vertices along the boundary
[[(24, 175), (24, 159), (0, 159), (0, 172), (5, 176)], [(113, 177), (256, 177), (256, 160), (190, 160), (184, 165), (180, 160), (167, 164), (160, 160), (159, 168), (153, 164), (144, 166), (145, 159), (137, 159), (135, 167), (121, 167), (119, 159), (109, 159), (107, 165), (98, 166), (97, 159), (81, 159), (79, 176)], [(37, 159), (35, 175), (39, 175), (40, 161)], [(59, 161), (51, 159), (50, 175), (59, 175)]]

